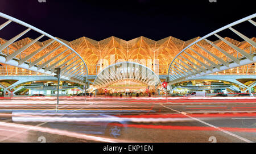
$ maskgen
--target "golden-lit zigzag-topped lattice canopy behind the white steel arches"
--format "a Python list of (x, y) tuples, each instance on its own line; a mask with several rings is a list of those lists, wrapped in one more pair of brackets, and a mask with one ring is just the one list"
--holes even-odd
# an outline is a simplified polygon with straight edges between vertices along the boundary
[[(57, 38), (59, 39), (59, 38)], [(142, 65), (147, 66), (148, 68), (152, 69), (156, 74), (168, 74), (168, 67), (171, 63), (171, 61), (174, 59), (174, 57), (182, 51), (185, 47), (187, 47), (189, 44), (199, 40), (200, 37), (183, 41), (176, 39), (172, 36), (168, 38), (164, 38), (159, 41), (154, 41), (148, 38), (139, 37), (130, 41), (125, 41), (119, 38), (110, 37), (101, 41), (92, 40), (89, 38), (79, 38), (73, 41), (65, 41), (62, 39), (59, 39), (69, 45), (69, 47), (73, 48), (79, 55), (84, 59), (86, 66), (88, 68), (88, 75), (97, 75), (100, 73), (101, 69), (106, 68), (110, 64), (118, 63), (121, 61), (131, 61), (135, 63), (140, 63)], [(238, 48), (243, 49), (243, 51), (250, 53), (255, 52), (255, 47), (252, 47), (251, 44), (247, 43), (247, 41), (237, 41), (230, 38), (224, 38), (225, 40), (229, 41), (230, 43), (236, 45)], [(256, 38), (250, 38), (253, 41), (256, 41)], [(24, 38), (19, 41), (16, 41), (9, 45), (9, 48), (5, 48), (2, 50), (2, 53), (4, 54), (11, 54), (14, 51), (17, 51), (18, 49), (24, 47), (25, 45), (31, 43), (34, 39), (31, 38)], [(5, 44), (8, 40), (0, 38), (0, 44)], [(32, 44), (30, 48), (27, 48), (24, 50), (24, 52), (21, 55), (16, 55), (16, 59), (22, 59), (23, 57), (26, 57), (27, 55), (30, 55), (31, 53), (34, 53), (39, 48), (44, 47), (47, 43), (51, 42), (52, 40), (46, 40), (43, 42), (36, 41), (36, 43)], [(237, 51), (230, 47), (228, 44), (226, 44), (223, 40), (216, 40), (211, 41), (214, 45), (217, 47), (223, 49), (224, 51), (228, 51), (230, 55), (237, 55)], [(210, 50), (212, 53), (219, 55), (220, 51), (218, 51), (216, 48), (213, 48), (212, 45), (209, 43), (206, 43), (205, 41), (199, 41), (197, 44), (199, 44), (201, 47)], [(31, 62), (36, 61), (40, 57), (44, 55), (49, 55), (46, 57), (45, 60), (39, 61), (38, 65), (43, 65), (47, 60), (51, 60), (52, 57), (57, 58), (55, 60), (52, 60), (47, 65), (51, 65), (56, 63), (56, 61), (63, 59), (65, 56), (68, 55), (68, 53), (60, 54), (65, 51), (65, 48), (58, 48), (55, 52), (49, 53), (52, 51), (52, 47), (57, 47), (59, 44), (52, 44), (48, 48), (42, 49), (42, 51), (38, 52), (34, 57), (30, 60)], [(205, 53), (204, 49), (199, 48), (198, 46), (194, 45), (190, 47), (195, 52), (189, 51), (188, 53), (191, 54), (195, 59), (204, 60), (200, 55), (203, 55), (209, 60), (216, 61), (214, 57), (211, 55)], [(198, 55), (197, 53), (200, 53)], [(60, 55), (59, 55), (60, 54)], [(240, 55), (238, 55), (240, 56)], [(72, 57), (72, 56), (71, 56)], [(66, 59), (71, 59), (69, 57), (65, 57)], [(201, 65), (197, 60), (188, 57), (192, 63)], [(226, 59), (225, 55), (223, 59)], [(69, 60), (67, 65), (72, 64), (77, 59)], [(114, 61), (112, 63), (111, 61)], [(75, 63), (77, 64), (77, 62)], [(191, 64), (191, 63), (189, 63)], [(5, 64), (2, 64), (5, 65)], [(156, 66), (157, 69), (156, 69)], [(76, 67), (75, 67), (76, 68)], [(246, 71), (246, 69), (248, 70)], [(10, 75), (17, 75), (15, 74), (15, 68), (10, 68), (10, 72), (8, 72)], [(12, 71), (13, 69), (13, 71)], [(254, 64), (244, 65), (240, 66), (237, 69), (232, 70), (226, 70), (226, 71), (220, 71), (219, 74), (255, 74), (255, 66)], [(3, 70), (5, 71), (5, 70)], [(27, 70), (28, 71), (28, 70)], [(238, 72), (238, 73), (237, 73)], [(25, 72), (24, 72), (25, 73)]]

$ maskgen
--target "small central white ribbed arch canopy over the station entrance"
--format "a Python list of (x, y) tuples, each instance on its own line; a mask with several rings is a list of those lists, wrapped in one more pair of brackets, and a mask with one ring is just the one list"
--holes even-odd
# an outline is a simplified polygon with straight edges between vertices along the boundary
[(150, 68), (139, 63), (125, 61), (102, 69), (95, 78), (93, 86), (100, 89), (124, 80), (139, 82), (151, 87), (161, 84), (159, 77)]

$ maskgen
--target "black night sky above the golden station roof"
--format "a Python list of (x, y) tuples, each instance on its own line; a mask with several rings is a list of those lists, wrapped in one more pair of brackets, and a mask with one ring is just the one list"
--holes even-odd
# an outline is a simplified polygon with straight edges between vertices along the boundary
[[(124, 40), (138, 36), (153, 40), (168, 36), (189, 40), (207, 35), (217, 28), (254, 14), (255, 10), (253, 0), (217, 0), (216, 3), (210, 3), (209, 0), (46, 0), (46, 3), (39, 3), (38, 0), (1, 0), (0, 2), (2, 13), (68, 41), (82, 36), (94, 40), (102, 40), (110, 36)], [(5, 20), (0, 20), (0, 24), (3, 22)], [(246, 23), (244, 27), (237, 29), (238, 31), (243, 29), (245, 35), (253, 37), (255, 31), (252, 33), (250, 26)], [(0, 32), (0, 38), (10, 39), (10, 36), (15, 36), (21, 31), (19, 28), (14, 28), (8, 32)], [(223, 35), (225, 37), (226, 34), (221, 36)]]

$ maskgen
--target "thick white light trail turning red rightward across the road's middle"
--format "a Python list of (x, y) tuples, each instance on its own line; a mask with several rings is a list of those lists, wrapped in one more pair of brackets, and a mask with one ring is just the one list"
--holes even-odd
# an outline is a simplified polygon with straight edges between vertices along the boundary
[[(64, 117), (64, 115), (66, 115)], [(10, 115), (9, 115), (10, 116)], [(195, 114), (193, 117), (200, 119), (216, 119), (220, 117), (241, 117), (253, 116), (256, 114)], [(166, 123), (166, 122), (186, 122), (191, 121), (184, 114), (146, 114), (146, 115), (101, 115), (90, 113), (30, 113), (13, 112), (11, 117), (14, 122), (137, 122), (137, 123)]]

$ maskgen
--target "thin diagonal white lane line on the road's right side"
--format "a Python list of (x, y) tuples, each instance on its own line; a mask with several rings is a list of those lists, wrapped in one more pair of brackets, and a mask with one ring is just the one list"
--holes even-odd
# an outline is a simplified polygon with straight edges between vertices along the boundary
[[(161, 105), (162, 105), (162, 104), (161, 104)], [(175, 112), (177, 112), (177, 113), (184, 114), (183, 112), (180, 112), (180, 111), (171, 109), (170, 107), (167, 107), (167, 106), (164, 106), (164, 105), (162, 105), (162, 106), (163, 106), (163, 107), (166, 107), (167, 109), (170, 109), (170, 110), (172, 110), (172, 111), (175, 111)], [(219, 127), (217, 127), (217, 126), (214, 126), (214, 125), (212, 125), (212, 124), (209, 124), (209, 123), (207, 123), (207, 122), (204, 122), (203, 120), (194, 118), (194, 117), (189, 116), (189, 115), (187, 115), (187, 114), (184, 114), (184, 115), (185, 115), (185, 116), (188, 116), (189, 118), (194, 119), (194, 120), (196, 120), (196, 121), (198, 121), (198, 122), (204, 123), (204, 124), (206, 124), (207, 126), (216, 128), (217, 130), (220, 130), (220, 131), (222, 131), (222, 132), (224, 132), (224, 133), (226, 133), (226, 134), (229, 134), (229, 135), (231, 135), (231, 136), (234, 136), (234, 137), (236, 137), (236, 138), (238, 138), (238, 139), (240, 139), (240, 140), (243, 140), (243, 141), (245, 141), (245, 142), (247, 142), (247, 143), (254, 143), (254, 142), (251, 141), (251, 140), (248, 140), (248, 139), (246, 139), (246, 138), (243, 138), (242, 136), (238, 136), (238, 135), (236, 135), (236, 134), (233, 134), (232, 132), (222, 130), (221, 128), (219, 128)]]

